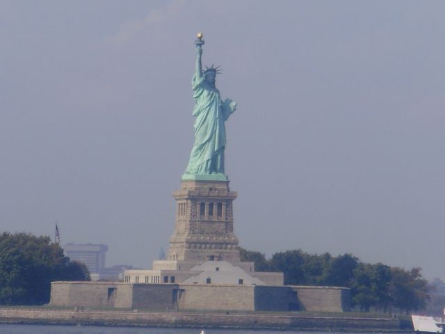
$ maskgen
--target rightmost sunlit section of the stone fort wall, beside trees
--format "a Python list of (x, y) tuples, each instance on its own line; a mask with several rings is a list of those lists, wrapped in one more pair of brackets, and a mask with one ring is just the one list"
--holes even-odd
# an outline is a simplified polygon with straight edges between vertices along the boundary
[(312, 287), (294, 285), (299, 309), (305, 311), (350, 311), (350, 289), (346, 287)]

